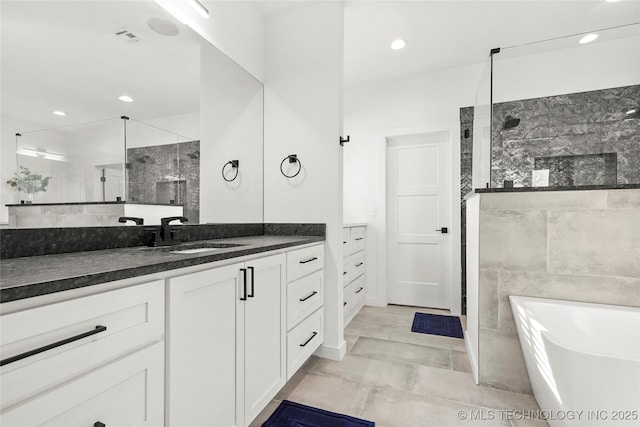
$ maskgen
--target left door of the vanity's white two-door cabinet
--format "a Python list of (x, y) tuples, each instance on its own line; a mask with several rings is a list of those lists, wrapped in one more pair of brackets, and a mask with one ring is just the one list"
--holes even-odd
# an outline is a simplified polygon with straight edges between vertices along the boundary
[(170, 427), (238, 426), (236, 325), (242, 264), (168, 280)]

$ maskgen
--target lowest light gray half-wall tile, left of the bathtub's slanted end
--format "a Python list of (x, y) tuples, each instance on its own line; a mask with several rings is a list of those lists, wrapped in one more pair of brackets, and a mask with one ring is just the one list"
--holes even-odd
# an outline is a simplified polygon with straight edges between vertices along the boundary
[(532, 394), (518, 335), (480, 328), (478, 345), (480, 385)]

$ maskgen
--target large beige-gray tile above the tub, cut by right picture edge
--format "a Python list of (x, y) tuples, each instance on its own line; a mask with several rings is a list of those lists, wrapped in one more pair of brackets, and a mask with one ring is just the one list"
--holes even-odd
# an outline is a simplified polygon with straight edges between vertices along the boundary
[(549, 272), (640, 277), (640, 210), (549, 212)]

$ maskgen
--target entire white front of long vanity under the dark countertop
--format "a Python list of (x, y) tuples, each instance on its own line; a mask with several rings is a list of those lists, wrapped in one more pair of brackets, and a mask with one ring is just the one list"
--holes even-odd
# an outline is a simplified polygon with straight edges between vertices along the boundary
[(242, 260), (5, 310), (0, 424), (249, 425), (322, 343), (324, 245)]

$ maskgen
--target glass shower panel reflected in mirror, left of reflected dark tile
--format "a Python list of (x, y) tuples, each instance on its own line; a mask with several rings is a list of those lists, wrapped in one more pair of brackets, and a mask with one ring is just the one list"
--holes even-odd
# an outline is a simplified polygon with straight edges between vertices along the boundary
[[(20, 203), (78, 203), (124, 198), (120, 119), (21, 132), (16, 136)], [(10, 184), (13, 185), (13, 184)]]

